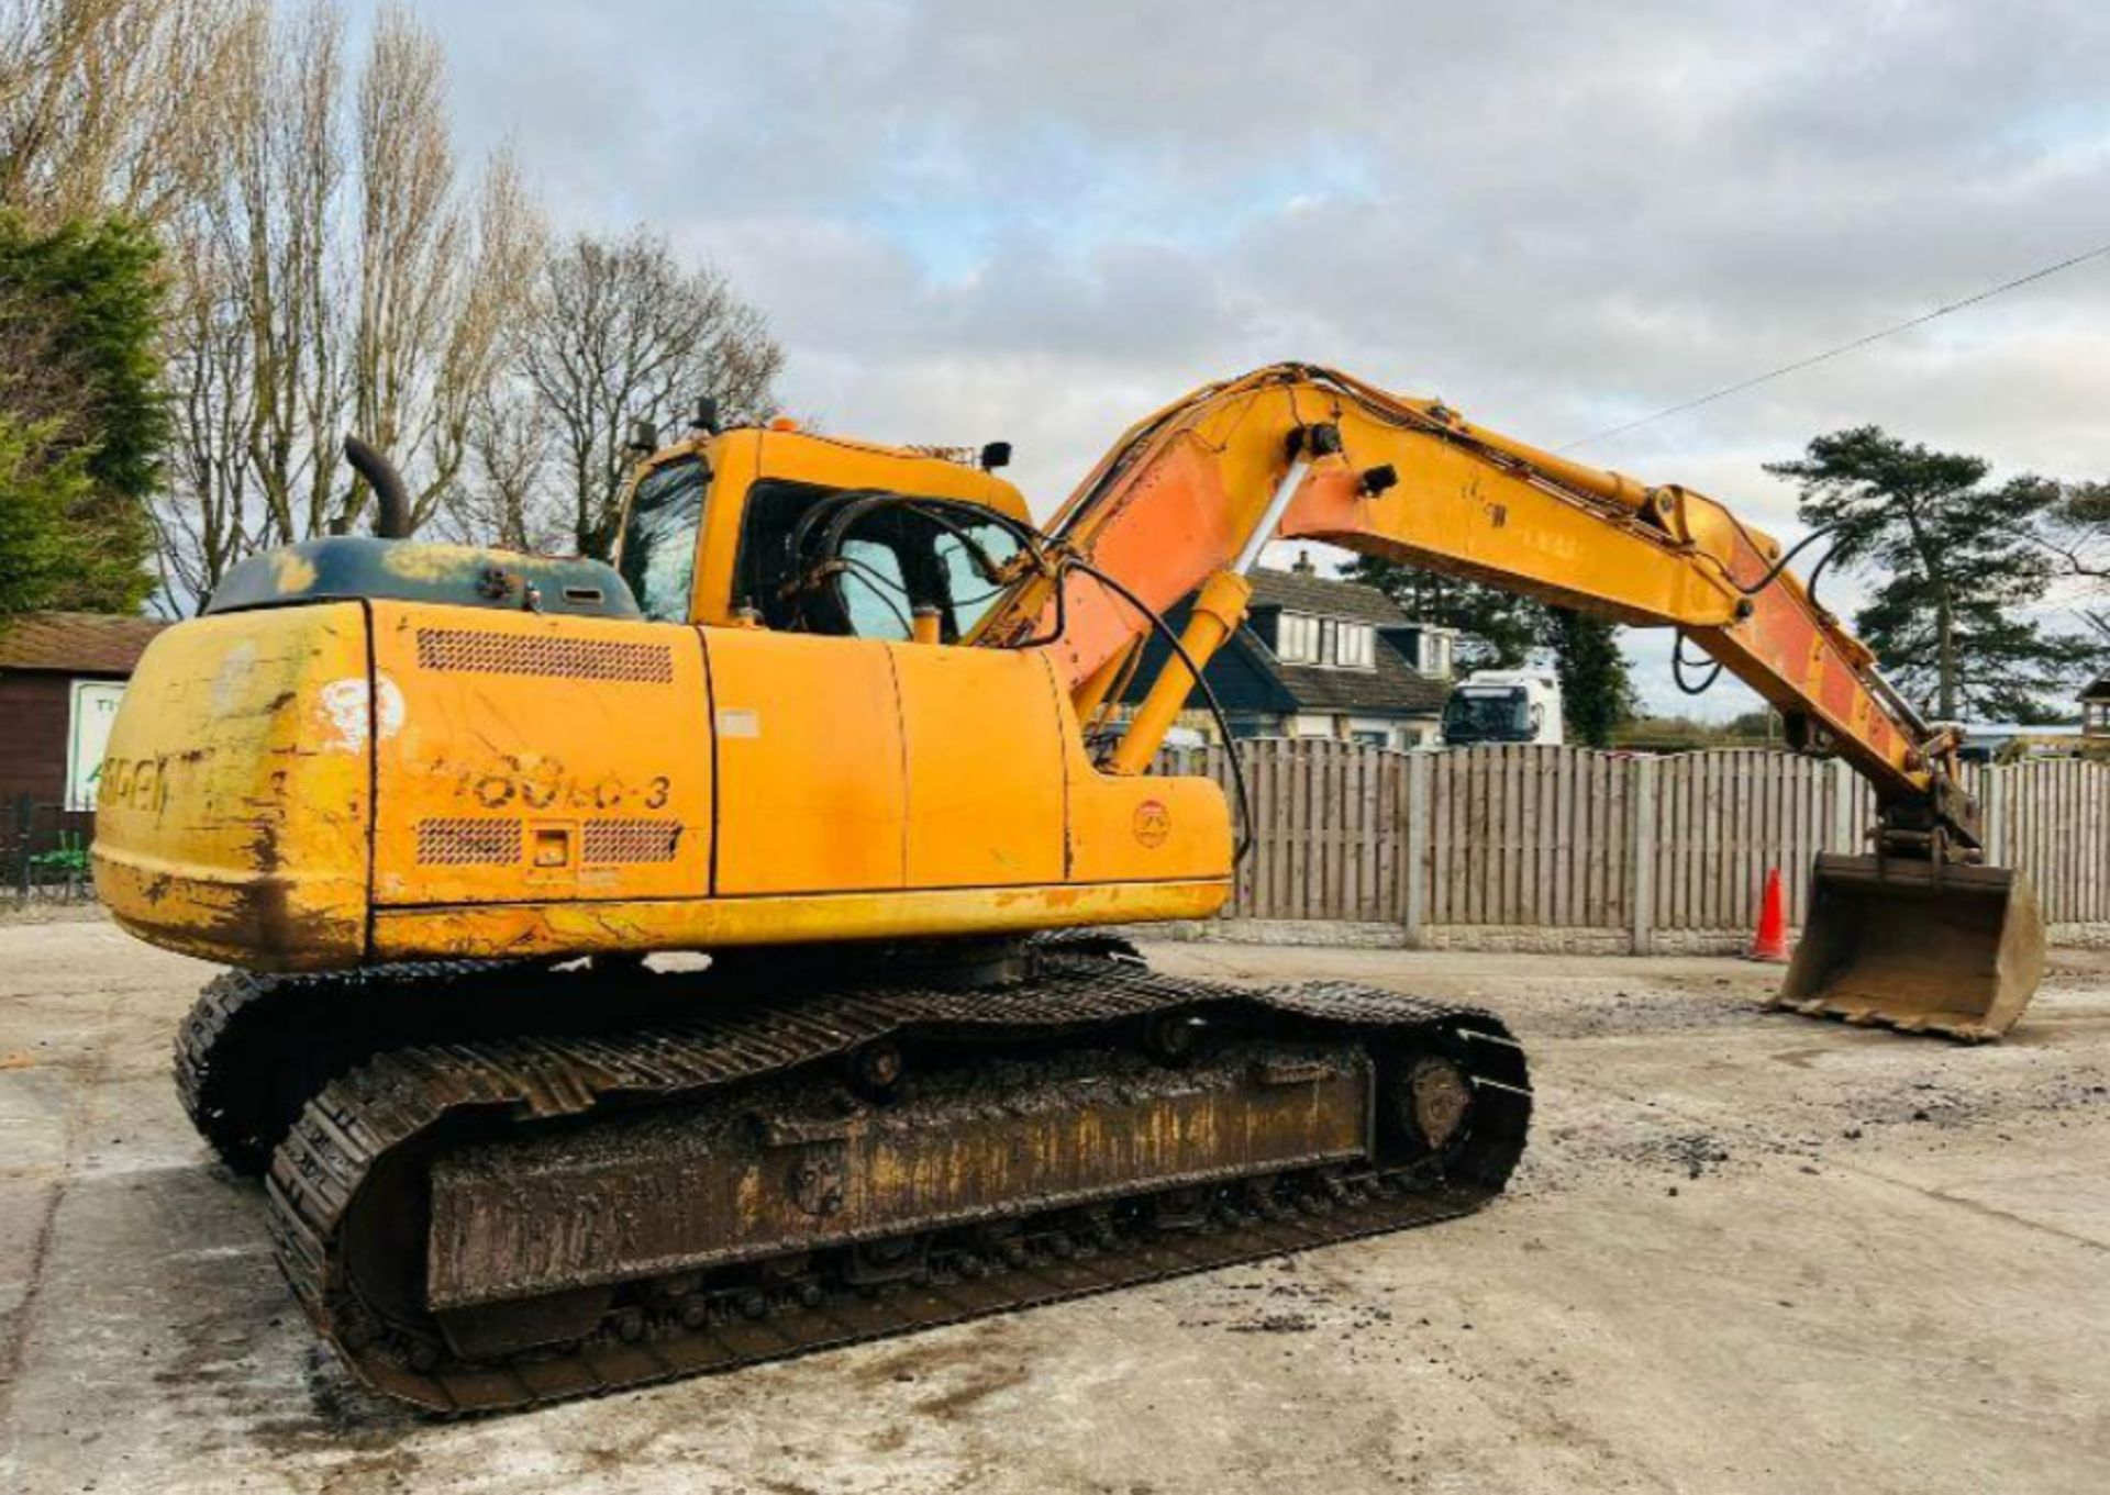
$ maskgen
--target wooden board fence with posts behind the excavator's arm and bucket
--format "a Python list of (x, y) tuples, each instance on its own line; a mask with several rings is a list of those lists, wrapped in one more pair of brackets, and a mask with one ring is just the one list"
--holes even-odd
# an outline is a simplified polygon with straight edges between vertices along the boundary
[[(1768, 751), (1390, 753), (1325, 738), (1241, 751), (1253, 852), (1224, 917), (1390, 924), (1409, 943), (1469, 930), (1601, 930), (1644, 951), (1741, 938), (1775, 867), (1800, 924), (1810, 858), (1865, 850), (1876, 810), (1844, 763)], [(1230, 789), (1222, 749), (1167, 768)], [(2110, 763), (1969, 774), (1988, 860), (2026, 869), (2049, 921), (2110, 926)]]

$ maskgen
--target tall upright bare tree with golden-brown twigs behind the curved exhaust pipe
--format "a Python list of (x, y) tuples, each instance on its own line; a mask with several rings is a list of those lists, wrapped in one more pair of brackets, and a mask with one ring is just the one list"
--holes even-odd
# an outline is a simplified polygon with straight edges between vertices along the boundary
[(439, 512), (544, 238), (511, 154), (462, 179), (439, 46), (405, 13), (380, 15), (352, 86), (333, 0), (241, 13), (219, 175), (169, 230), (184, 449), (156, 527), (188, 597), (361, 519), (346, 430), (403, 468), (418, 523)]

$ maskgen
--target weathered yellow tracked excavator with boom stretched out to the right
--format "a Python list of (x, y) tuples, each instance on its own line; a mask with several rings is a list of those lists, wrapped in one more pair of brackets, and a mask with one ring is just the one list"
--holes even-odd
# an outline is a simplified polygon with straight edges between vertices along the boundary
[(616, 567), (414, 544), (386, 460), (346, 453), (376, 538), (245, 561), (156, 639), (95, 869), (124, 928), (232, 968), (177, 1037), (184, 1105), (266, 1177), (319, 1333), (420, 1406), (741, 1366), (1502, 1189), (1530, 1080), (1494, 1014), (1165, 976), (1110, 932), (1228, 896), (1224, 793), (1150, 765), (1268, 540), (1680, 628), (1867, 776), (1872, 854), (1819, 858), (1779, 1006), (1988, 1040), (2040, 974), (1954, 736), (1770, 538), (1435, 401), (1304, 365), (1213, 384), (1047, 527), (1000, 447), (701, 413), (639, 466)]

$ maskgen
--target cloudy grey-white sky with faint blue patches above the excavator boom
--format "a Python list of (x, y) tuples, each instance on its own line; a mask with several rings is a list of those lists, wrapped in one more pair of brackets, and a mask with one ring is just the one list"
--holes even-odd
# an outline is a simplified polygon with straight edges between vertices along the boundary
[[(1260, 363), (1559, 445), (2110, 240), (2102, 0), (418, 8), (559, 228), (667, 232), (793, 411), (1011, 439), (1040, 512)], [(2106, 392), (2095, 261), (1576, 455), (1789, 533), (1760, 464), (1817, 432), (2104, 477)]]

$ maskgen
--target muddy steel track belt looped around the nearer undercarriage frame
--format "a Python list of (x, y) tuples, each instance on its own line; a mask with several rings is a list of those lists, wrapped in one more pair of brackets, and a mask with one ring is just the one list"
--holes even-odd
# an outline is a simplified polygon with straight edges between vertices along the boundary
[[(690, 1101), (713, 1088), (829, 1059), (876, 1037), (1091, 1031), (1150, 1012), (1243, 1010), (1285, 1027), (1456, 1035), (1475, 1080), (1471, 1137), (1454, 1177), (1407, 1198), (1372, 1198), (1325, 1217), (1247, 1223), (1211, 1236), (1158, 1236), (1091, 1261), (1040, 1263), (996, 1278), (935, 1282), (865, 1299), (829, 1293), (817, 1307), (709, 1324), (625, 1343), (599, 1335), (572, 1352), (504, 1364), (414, 1368), (388, 1335), (365, 1328), (340, 1257), (340, 1227), (376, 1162), (449, 1118), (515, 1122), (574, 1115), (608, 1101)], [(726, 1371), (829, 1345), (926, 1328), (1304, 1250), (1471, 1212), (1500, 1193), (1530, 1118), (1521, 1050), (1498, 1018), (1386, 991), (1319, 983), (1239, 989), (1158, 976), (1131, 962), (1057, 957), (1025, 985), (981, 991), (861, 991), (757, 1006), (652, 1031), (418, 1046), (380, 1054), (308, 1105), (272, 1162), (270, 1231), (302, 1307), (354, 1373), (441, 1413), (498, 1411), (591, 1396), (667, 1377)]]

